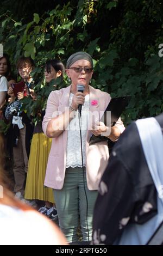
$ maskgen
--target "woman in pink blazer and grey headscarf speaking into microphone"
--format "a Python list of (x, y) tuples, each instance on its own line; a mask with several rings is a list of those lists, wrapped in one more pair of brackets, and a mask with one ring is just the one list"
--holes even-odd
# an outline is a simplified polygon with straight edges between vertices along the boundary
[[(109, 158), (106, 141), (89, 145), (92, 133), (96, 136), (101, 135), (109, 128), (98, 120), (96, 130), (92, 129), (93, 124), (90, 120), (94, 112), (99, 117), (100, 112), (105, 111), (111, 97), (108, 93), (89, 85), (93, 75), (90, 54), (72, 54), (67, 60), (66, 73), (71, 79), (71, 85), (55, 90), (49, 95), (42, 122), (45, 134), (53, 138), (45, 186), (54, 190), (59, 226), (67, 241), (78, 241), (79, 215), (83, 241), (90, 241), (98, 183)], [(84, 92), (78, 92), (78, 84), (85, 87)], [(83, 105), (80, 118), (83, 150), (80, 148), (79, 105)], [(123, 130), (123, 123), (119, 119), (108, 136), (115, 141)]]

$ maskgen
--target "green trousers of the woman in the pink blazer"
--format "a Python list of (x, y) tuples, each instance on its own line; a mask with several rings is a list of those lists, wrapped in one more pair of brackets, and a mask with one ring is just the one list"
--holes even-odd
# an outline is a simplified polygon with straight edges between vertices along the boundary
[(70, 167), (66, 169), (63, 188), (53, 190), (59, 227), (68, 242), (78, 241), (78, 224), (80, 224), (83, 241), (91, 241), (93, 208), (98, 192), (97, 190), (88, 190), (85, 168), (84, 180), (85, 182), (83, 182), (82, 168)]

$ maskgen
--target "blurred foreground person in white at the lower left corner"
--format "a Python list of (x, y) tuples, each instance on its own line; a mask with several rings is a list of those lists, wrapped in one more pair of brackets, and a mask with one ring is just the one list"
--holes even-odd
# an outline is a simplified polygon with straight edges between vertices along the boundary
[(14, 197), (3, 181), (0, 134), (0, 245), (67, 245), (57, 225)]

